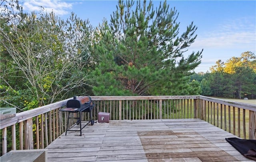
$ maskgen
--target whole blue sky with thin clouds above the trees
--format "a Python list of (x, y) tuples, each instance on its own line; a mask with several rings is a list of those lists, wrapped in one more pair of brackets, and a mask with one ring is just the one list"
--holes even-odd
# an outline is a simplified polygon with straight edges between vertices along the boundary
[[(54, 11), (66, 19), (74, 12), (83, 20), (89, 20), (96, 27), (103, 18), (110, 20), (116, 10), (116, 0), (23, 0), (25, 12), (40, 10)], [(256, 53), (256, 1), (232, 0), (168, 0), (170, 8), (179, 12), (180, 32), (193, 21), (198, 27), (198, 37), (185, 55), (204, 49), (202, 63), (195, 72), (206, 72), (218, 59), (226, 62), (239, 57), (242, 52)], [(154, 8), (160, 0), (154, 0)]]

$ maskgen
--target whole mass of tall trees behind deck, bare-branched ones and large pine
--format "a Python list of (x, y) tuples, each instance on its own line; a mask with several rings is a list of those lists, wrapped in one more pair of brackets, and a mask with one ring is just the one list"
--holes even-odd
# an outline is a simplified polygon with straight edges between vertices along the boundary
[(193, 22), (179, 31), (178, 12), (165, 2), (118, 1), (110, 22), (92, 28), (74, 13), (24, 13), (1, 1), (0, 107), (20, 111), (73, 95), (198, 95), (190, 75), (202, 51)]

